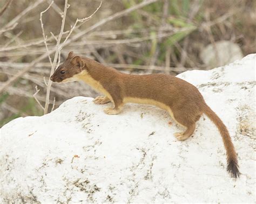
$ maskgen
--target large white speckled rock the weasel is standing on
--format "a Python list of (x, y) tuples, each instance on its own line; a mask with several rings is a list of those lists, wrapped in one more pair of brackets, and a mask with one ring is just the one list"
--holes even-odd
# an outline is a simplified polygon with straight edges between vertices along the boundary
[[(241, 176), (231, 178), (217, 128), (205, 115), (193, 136), (164, 110), (75, 97), (51, 114), (17, 118), (0, 130), (0, 203), (255, 202), (255, 61), (251, 54), (178, 77), (197, 86), (226, 124)], [(170, 123), (173, 123), (170, 125)]]

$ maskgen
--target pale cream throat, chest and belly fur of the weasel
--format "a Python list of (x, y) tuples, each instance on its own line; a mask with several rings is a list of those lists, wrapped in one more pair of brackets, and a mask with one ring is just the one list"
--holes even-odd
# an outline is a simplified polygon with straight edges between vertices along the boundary
[[(104, 89), (104, 87), (98, 81), (93, 79), (86, 71), (76, 74), (72, 78), (65, 79), (65, 80), (63, 80), (63, 82), (71, 82), (71, 81), (79, 81), (79, 80), (84, 81), (85, 83), (90, 85), (93, 89), (97, 90), (98, 92), (103, 93), (105, 96), (107, 96), (113, 102), (113, 99), (112, 99), (111, 95), (109, 94), (109, 92), (107, 92), (107, 90)], [(168, 105), (161, 103), (159, 101), (152, 100), (152, 99), (140, 99), (137, 97), (136, 98), (135, 97), (125, 97), (123, 100), (123, 103), (124, 104), (125, 103), (140, 103), (140, 104), (156, 105), (157, 107), (169, 112), (169, 114), (172, 116), (174, 121), (176, 121), (176, 119), (173, 116), (173, 112), (172, 112), (171, 108)], [(180, 123), (178, 123), (178, 124), (181, 125)], [(184, 125), (181, 125), (181, 126), (184, 126)]]

